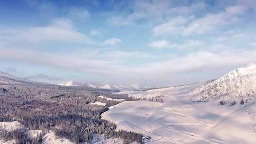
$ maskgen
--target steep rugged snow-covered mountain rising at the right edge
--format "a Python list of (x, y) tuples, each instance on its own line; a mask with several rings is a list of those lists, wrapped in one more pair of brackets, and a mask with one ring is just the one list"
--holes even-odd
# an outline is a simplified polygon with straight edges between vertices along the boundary
[(253, 101), (256, 97), (256, 64), (231, 71), (216, 81), (193, 90), (192, 94), (198, 94), (197, 101), (223, 100), (231, 102), (243, 99), (246, 102)]

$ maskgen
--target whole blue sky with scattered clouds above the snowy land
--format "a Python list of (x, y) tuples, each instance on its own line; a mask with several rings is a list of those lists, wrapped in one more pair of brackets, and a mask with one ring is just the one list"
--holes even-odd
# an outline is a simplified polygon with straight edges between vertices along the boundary
[(210, 80), (256, 63), (256, 0), (1, 0), (0, 71), (59, 84)]

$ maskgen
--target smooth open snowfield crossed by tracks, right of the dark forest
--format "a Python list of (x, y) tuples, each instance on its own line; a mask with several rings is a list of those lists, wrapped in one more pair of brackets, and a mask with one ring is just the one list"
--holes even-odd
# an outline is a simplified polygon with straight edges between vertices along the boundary
[(102, 118), (118, 129), (151, 136), (148, 143), (152, 144), (256, 144), (255, 104), (227, 107), (218, 101), (192, 102), (197, 96), (190, 91), (202, 84), (125, 91), (137, 98), (165, 95), (165, 102), (124, 101), (110, 107)]

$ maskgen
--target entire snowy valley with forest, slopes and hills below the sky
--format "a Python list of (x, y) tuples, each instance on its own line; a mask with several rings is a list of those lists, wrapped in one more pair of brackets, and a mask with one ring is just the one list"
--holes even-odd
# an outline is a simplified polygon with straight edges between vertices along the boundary
[(255, 74), (250, 64), (211, 81), (111, 91), (2, 72), (0, 144), (255, 144)]

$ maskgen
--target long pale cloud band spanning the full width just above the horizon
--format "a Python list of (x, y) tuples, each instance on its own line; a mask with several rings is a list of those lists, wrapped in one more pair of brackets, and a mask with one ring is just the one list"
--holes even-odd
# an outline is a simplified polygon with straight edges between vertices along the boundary
[[(60, 69), (85, 72), (104, 78), (111, 82), (133, 82), (168, 83), (170, 80), (178, 82), (193, 82), (202, 78), (202, 73), (213, 72), (205, 79), (218, 77), (218, 74), (229, 72), (230, 68), (237, 68), (247, 63), (256, 62), (255, 50), (230, 51), (211, 53), (206, 51), (195, 52), (166, 61), (155, 61), (154, 63), (141, 63), (137, 66), (128, 65), (126, 62), (133, 58), (136, 53), (117, 52), (98, 53), (83, 55), (83, 53), (49, 54), (41, 51), (26, 49), (4, 49), (0, 48), (0, 59), (17, 61), (19, 63), (34, 64)], [(111, 57), (122, 54), (123, 61), (111, 60)], [(143, 53), (137, 53), (143, 55)], [(102, 57), (102, 58), (100, 58)], [(120, 56), (121, 57), (121, 56)], [(140, 58), (141, 59), (141, 58)], [(224, 73), (218, 73), (221, 72)], [(191, 78), (191, 75), (193, 77)], [(177, 83), (176, 83), (177, 84)]]

